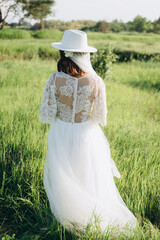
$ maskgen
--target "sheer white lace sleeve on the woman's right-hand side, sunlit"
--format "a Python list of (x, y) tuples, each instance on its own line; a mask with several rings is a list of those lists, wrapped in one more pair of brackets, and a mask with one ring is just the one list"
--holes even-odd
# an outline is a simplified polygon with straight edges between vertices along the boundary
[(95, 89), (92, 120), (94, 122), (100, 123), (102, 126), (105, 126), (107, 124), (106, 114), (106, 87), (103, 80), (98, 77)]

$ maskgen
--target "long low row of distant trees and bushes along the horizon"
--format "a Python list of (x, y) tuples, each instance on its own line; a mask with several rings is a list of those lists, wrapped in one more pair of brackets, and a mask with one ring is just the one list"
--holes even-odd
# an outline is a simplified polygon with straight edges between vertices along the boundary
[(117, 19), (112, 22), (107, 21), (45, 21), (44, 27), (53, 30), (66, 30), (66, 29), (81, 29), (85, 31), (94, 32), (122, 32), (122, 31), (136, 31), (136, 32), (154, 32), (160, 33), (160, 18), (155, 21), (147, 20), (147, 18), (140, 15), (136, 16), (132, 21), (124, 23)]

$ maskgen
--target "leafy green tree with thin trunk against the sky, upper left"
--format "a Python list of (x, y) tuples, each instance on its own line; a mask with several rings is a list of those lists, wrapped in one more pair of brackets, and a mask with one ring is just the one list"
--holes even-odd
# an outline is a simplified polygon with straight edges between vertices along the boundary
[(41, 29), (46, 16), (53, 15), (51, 7), (55, 3), (54, 0), (18, 0), (18, 2), (22, 3), (22, 9), (26, 11), (25, 17), (40, 20)]

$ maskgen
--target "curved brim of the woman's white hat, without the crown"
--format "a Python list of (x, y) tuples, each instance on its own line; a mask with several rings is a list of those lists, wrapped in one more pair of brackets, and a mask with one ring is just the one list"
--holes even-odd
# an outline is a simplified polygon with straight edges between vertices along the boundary
[(67, 48), (63, 46), (62, 43), (52, 43), (51, 46), (58, 50), (68, 51), (68, 52), (97, 52), (96, 48), (90, 47), (90, 46), (87, 46), (87, 48), (83, 48), (83, 49)]

